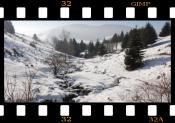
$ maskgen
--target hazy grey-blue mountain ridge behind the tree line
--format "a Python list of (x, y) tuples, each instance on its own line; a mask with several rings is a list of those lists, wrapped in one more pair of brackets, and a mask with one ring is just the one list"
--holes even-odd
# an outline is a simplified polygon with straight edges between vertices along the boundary
[(96, 41), (97, 39), (102, 40), (105, 37), (111, 36), (115, 33), (120, 34), (121, 31), (124, 33), (128, 32), (132, 28), (125, 25), (115, 25), (115, 24), (103, 24), (103, 25), (87, 25), (87, 24), (71, 24), (62, 27), (56, 27), (54, 29), (48, 30), (44, 33), (38, 34), (39, 38), (42, 40), (50, 41), (53, 37), (60, 38), (62, 30), (70, 32), (70, 38), (75, 38), (78, 40)]

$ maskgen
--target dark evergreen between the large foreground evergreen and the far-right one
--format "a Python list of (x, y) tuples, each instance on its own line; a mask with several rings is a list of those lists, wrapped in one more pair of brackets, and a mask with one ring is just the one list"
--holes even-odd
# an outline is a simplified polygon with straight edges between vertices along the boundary
[(154, 27), (150, 23), (147, 23), (145, 29), (142, 31), (143, 32), (141, 38), (143, 41), (143, 47), (147, 47), (148, 44), (155, 43), (157, 34)]

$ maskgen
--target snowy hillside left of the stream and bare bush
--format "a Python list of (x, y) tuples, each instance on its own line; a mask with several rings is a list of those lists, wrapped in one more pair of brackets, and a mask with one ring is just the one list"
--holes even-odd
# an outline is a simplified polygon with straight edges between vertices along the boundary
[[(22, 37), (22, 38), (21, 38)], [(11, 34), (4, 35), (4, 49), (5, 49), (5, 83), (6, 81), (17, 81), (17, 91), (23, 89), (23, 82), (27, 81), (27, 75), (31, 72), (37, 72), (33, 80), (34, 90), (39, 90), (39, 95), (51, 95), (57, 100), (62, 101), (61, 96), (64, 92), (59, 88), (51, 91), (49, 87), (54, 87), (56, 80), (48, 67), (44, 64), (44, 60), (50, 53), (55, 51), (48, 44), (37, 42), (36, 48), (30, 46), (32, 38), (26, 36), (14, 36)], [(14, 50), (19, 55), (14, 55)], [(11, 55), (9, 55), (9, 52)], [(15, 76), (15, 78), (14, 78)], [(61, 81), (61, 80), (60, 80)], [(6, 84), (5, 84), (6, 86)], [(20, 93), (20, 92), (19, 92)], [(51, 96), (49, 98), (51, 98)]]

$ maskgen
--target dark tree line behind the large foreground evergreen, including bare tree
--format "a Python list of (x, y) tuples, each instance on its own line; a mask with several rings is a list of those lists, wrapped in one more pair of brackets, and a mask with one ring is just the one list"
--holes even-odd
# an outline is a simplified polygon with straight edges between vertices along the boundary
[[(157, 39), (157, 33), (154, 27), (147, 23), (145, 27), (136, 28), (139, 35), (140, 47), (146, 48), (149, 44), (155, 43)], [(115, 33), (110, 39), (103, 39), (103, 41), (96, 40), (94, 43), (90, 41), (88, 44), (83, 40), (77, 42), (75, 38), (70, 38), (70, 33), (63, 30), (60, 34), (60, 39), (54, 37), (52, 41), (54, 42), (54, 48), (57, 51), (81, 57), (82, 53), (85, 58), (91, 58), (96, 55), (104, 55), (106, 53), (114, 52), (117, 50), (118, 46), (121, 45), (122, 50), (131, 47), (133, 30), (124, 34), (121, 31), (120, 34)], [(165, 23), (159, 36), (167, 36), (171, 34), (170, 23)]]

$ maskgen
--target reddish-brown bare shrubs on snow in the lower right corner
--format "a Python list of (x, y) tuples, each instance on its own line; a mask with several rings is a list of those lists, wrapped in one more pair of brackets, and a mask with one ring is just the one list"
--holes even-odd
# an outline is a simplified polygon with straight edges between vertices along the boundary
[(132, 97), (134, 102), (171, 102), (171, 79), (165, 73), (157, 77), (157, 82), (143, 82)]

